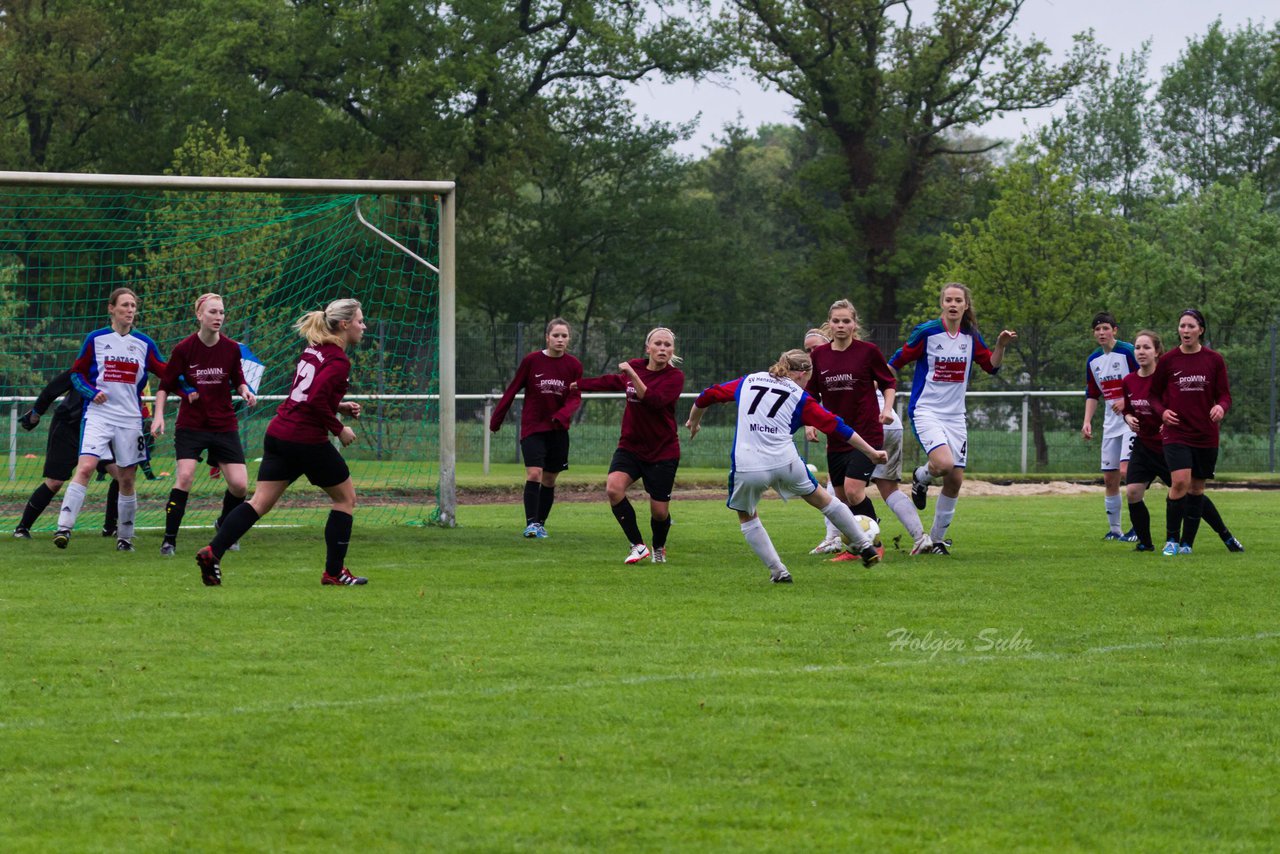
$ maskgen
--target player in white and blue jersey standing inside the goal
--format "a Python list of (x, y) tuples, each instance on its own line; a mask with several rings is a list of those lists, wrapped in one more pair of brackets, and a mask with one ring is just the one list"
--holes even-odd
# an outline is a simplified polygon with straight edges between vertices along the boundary
[(147, 371), (164, 374), (164, 360), (155, 342), (133, 332), (138, 297), (129, 288), (116, 288), (108, 302), (111, 325), (92, 332), (84, 339), (72, 366), (72, 384), (84, 398), (84, 426), (81, 433), (79, 462), (63, 497), (54, 545), (67, 548), (76, 517), (84, 504), (88, 479), (99, 458), (113, 453), (119, 469), (115, 548), (133, 551), (133, 519), (138, 497), (134, 493), (137, 465), (147, 456), (142, 430), (142, 387)]

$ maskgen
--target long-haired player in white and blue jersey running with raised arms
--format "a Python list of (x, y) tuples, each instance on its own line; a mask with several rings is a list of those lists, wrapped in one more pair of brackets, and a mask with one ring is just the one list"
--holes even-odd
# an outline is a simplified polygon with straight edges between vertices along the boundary
[(955, 517), (964, 484), (969, 446), (964, 396), (969, 373), (977, 362), (988, 374), (995, 374), (1005, 361), (1005, 350), (1018, 338), (1016, 332), (1005, 329), (996, 347), (988, 348), (978, 333), (973, 294), (957, 282), (942, 286), (941, 305), (942, 316), (913, 329), (906, 343), (888, 360), (893, 369), (915, 362), (908, 414), (929, 461), (911, 475), (911, 499), (924, 510), (929, 484), (942, 480), (942, 495), (929, 529), (934, 554), (948, 553), (947, 528)]

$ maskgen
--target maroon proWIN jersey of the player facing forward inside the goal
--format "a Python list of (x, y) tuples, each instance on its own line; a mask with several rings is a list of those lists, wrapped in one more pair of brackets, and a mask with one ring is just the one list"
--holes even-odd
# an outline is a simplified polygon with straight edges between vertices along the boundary
[(238, 425), (232, 408), (232, 391), (244, 384), (241, 370), (239, 344), (219, 334), (218, 343), (209, 347), (200, 335), (188, 335), (178, 342), (169, 357), (160, 388), (170, 394), (186, 388), (200, 392), (195, 402), (183, 398), (178, 407), (178, 426), (186, 430), (233, 433)]

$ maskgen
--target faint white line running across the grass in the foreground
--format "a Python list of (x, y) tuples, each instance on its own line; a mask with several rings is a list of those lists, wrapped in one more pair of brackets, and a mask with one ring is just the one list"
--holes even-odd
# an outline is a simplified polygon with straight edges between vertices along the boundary
[[(417, 703), (434, 697), (454, 697), (462, 694), (477, 694), (480, 697), (500, 697), (503, 694), (521, 693), (562, 693), (562, 691), (591, 691), (609, 686), (627, 685), (653, 685), (660, 682), (699, 682), (718, 679), (735, 679), (744, 676), (791, 676), (795, 673), (844, 673), (859, 670), (873, 670), (878, 667), (914, 667), (920, 665), (972, 665), (995, 661), (1068, 661), (1071, 658), (1084, 658), (1087, 656), (1110, 656), (1120, 652), (1140, 652), (1144, 649), (1167, 649), (1169, 647), (1222, 647), (1229, 644), (1252, 643), (1256, 640), (1275, 640), (1280, 638), (1280, 631), (1260, 631), (1254, 635), (1239, 635), (1235, 638), (1170, 638), (1166, 640), (1144, 640), (1132, 644), (1111, 644), (1107, 647), (1089, 647), (1074, 653), (992, 653), (986, 656), (938, 656), (931, 658), (928, 654), (911, 656), (910, 658), (892, 658), (887, 661), (874, 661), (860, 665), (801, 665), (799, 667), (765, 668), (744, 667), (741, 670), (714, 670), (690, 673), (650, 673), (645, 676), (621, 676), (618, 679), (582, 680), (566, 682), (562, 685), (500, 685), (477, 690), (442, 688), (429, 691), (415, 691), (411, 694), (393, 694), (378, 697), (358, 697), (338, 700), (282, 700), (276, 703), (261, 703), (259, 705), (233, 705), (228, 709), (193, 709), (187, 712), (131, 712), (113, 717), (99, 716), (93, 723), (129, 723), (132, 721), (193, 721), (202, 718), (220, 718), (228, 714), (279, 714), (288, 712), (311, 712), (324, 709), (366, 708), (376, 705), (403, 705)], [(76, 725), (86, 725), (88, 721), (55, 721), (47, 718), (31, 718), (26, 721), (0, 721), (0, 731), (4, 730), (40, 730), (59, 729), (65, 730)]]

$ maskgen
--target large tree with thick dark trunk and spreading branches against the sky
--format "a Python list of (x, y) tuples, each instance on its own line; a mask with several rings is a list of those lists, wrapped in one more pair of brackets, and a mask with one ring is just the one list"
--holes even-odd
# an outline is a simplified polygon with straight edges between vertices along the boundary
[(902, 234), (929, 166), (965, 157), (957, 134), (988, 118), (1050, 106), (1089, 72), (1092, 36), (1061, 65), (1011, 26), (1025, 0), (940, 0), (916, 23), (910, 0), (733, 0), (751, 68), (832, 137), (846, 239), (877, 321), (899, 320)]

